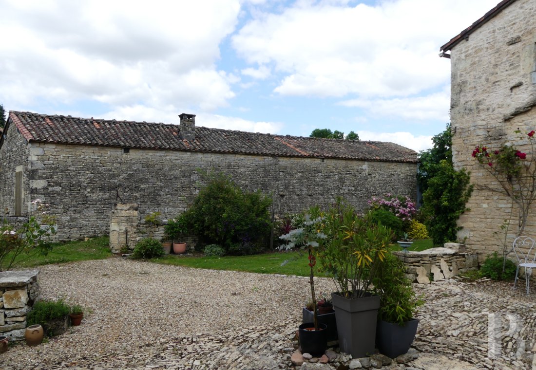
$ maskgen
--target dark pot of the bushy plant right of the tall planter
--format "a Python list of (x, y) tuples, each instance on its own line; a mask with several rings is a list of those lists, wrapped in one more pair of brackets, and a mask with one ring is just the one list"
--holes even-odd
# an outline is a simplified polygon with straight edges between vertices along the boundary
[(406, 321), (404, 326), (378, 321), (376, 345), (379, 353), (385, 354), (390, 358), (407, 353), (413, 343), (413, 339), (415, 339), (418, 326), (419, 320), (417, 319)]

